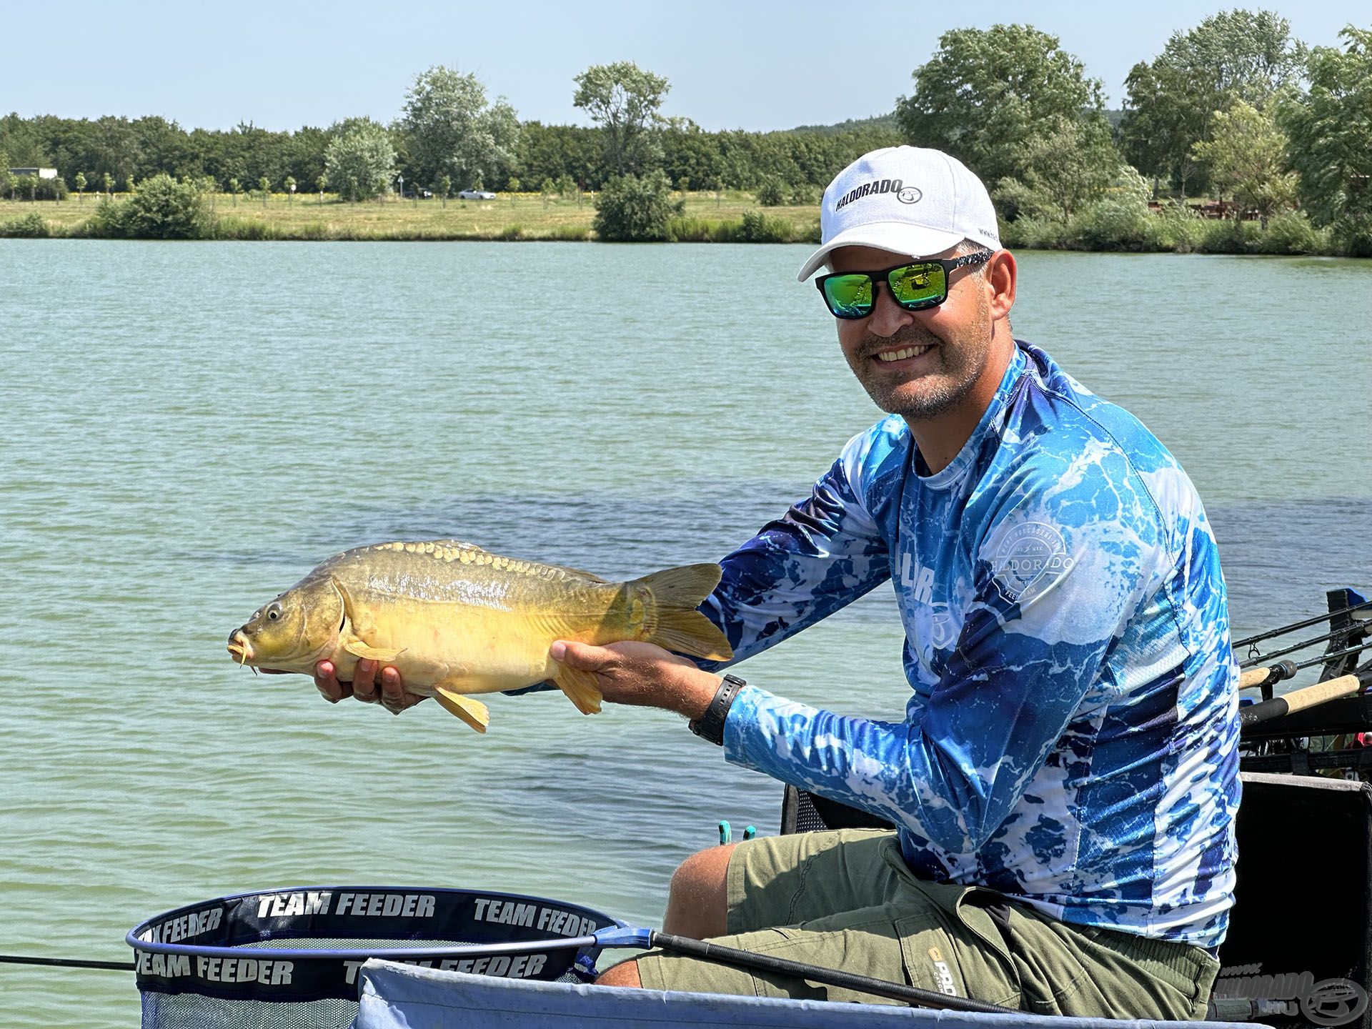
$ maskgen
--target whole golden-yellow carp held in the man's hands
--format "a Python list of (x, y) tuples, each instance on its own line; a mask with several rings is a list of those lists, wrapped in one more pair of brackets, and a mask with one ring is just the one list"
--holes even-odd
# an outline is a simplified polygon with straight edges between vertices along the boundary
[(479, 733), (490, 713), (473, 693), (552, 679), (583, 715), (601, 708), (595, 676), (549, 656), (554, 639), (642, 639), (727, 660), (724, 634), (696, 608), (718, 564), (611, 583), (576, 568), (501, 557), (456, 539), (376, 543), (328, 558), (229, 635), (239, 664), (353, 678), (362, 659), (394, 665), (405, 689), (431, 696)]

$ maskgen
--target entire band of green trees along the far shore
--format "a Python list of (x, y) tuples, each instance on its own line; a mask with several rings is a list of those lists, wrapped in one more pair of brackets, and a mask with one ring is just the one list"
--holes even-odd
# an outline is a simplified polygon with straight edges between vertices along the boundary
[[(602, 237), (660, 239), (681, 213), (674, 189), (814, 203), (855, 156), (914, 143), (977, 172), (1017, 244), (1184, 248), (1199, 239), (1187, 202), (1206, 196), (1235, 224), (1257, 221), (1232, 230), (1240, 243), (1276, 225), (1291, 248), (1372, 254), (1372, 27), (1350, 25), (1339, 45), (1309, 48), (1273, 12), (1221, 11), (1136, 63), (1114, 117), (1100, 80), (1029, 25), (944, 33), (912, 78), (889, 122), (757, 133), (664, 118), (668, 81), (631, 62), (575, 77), (573, 103), (591, 126), (520, 122), (475, 74), (435, 66), (416, 75), (390, 123), (187, 132), (156, 117), (11, 114), (0, 118), (0, 176), (7, 163), (45, 165), (62, 174), (45, 187), (56, 191), (108, 193), (166, 174), (228, 192), (291, 182), (350, 200), (399, 182), (442, 196), (594, 189)], [(27, 184), (30, 196), (38, 188)], [(1162, 218), (1148, 221), (1150, 211)]]

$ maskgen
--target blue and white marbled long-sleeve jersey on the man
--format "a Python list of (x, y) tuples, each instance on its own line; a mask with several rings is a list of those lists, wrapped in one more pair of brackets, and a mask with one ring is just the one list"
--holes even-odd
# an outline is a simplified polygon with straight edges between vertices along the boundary
[(1238, 671), (1190, 479), (1131, 414), (1018, 343), (951, 465), (906, 423), (723, 561), (735, 660), (892, 579), (906, 720), (744, 687), (730, 761), (878, 814), (923, 878), (1214, 947), (1233, 892)]

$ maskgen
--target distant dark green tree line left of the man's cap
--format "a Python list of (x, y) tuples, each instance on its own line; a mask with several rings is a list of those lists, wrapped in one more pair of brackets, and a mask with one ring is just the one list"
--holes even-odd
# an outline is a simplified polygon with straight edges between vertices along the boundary
[[(284, 192), (328, 189), (357, 199), (394, 189), (447, 191), (600, 191), (616, 172), (645, 151), (626, 145), (631, 165), (606, 155), (602, 137), (623, 130), (519, 122), (504, 102), (486, 103), (475, 75), (435, 67), (416, 78), (401, 118), (386, 125), (346, 118), (328, 128), (273, 132), (244, 122), (228, 130), (182, 129), (166, 118), (107, 115), (96, 119), (18, 114), (0, 117), (0, 193), (18, 187), (8, 167), (55, 167), (63, 196), (78, 192), (128, 192), (155, 174), (206, 182), (220, 192), (258, 189), (268, 180)], [(755, 189), (775, 178), (786, 199), (814, 203), (819, 192), (856, 155), (899, 143), (889, 128), (838, 134), (792, 132), (707, 132), (690, 119), (650, 119), (654, 162), (681, 189)], [(332, 148), (332, 155), (331, 155)], [(332, 156), (332, 162), (331, 162)], [(329, 176), (329, 172), (333, 172)], [(80, 177), (80, 182), (78, 182)], [(348, 180), (353, 180), (350, 184)], [(236, 188), (235, 188), (236, 187)], [(38, 199), (52, 199), (55, 184), (38, 181)]]

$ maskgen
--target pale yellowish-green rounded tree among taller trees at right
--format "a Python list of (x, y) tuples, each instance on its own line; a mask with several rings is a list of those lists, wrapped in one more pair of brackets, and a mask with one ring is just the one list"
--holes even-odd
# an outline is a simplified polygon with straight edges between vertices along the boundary
[(1236, 200), (1236, 217), (1255, 210), (1266, 229), (1273, 214), (1295, 202), (1297, 177), (1286, 169), (1286, 145), (1270, 113), (1235, 100), (1228, 111), (1214, 113), (1210, 139), (1191, 148), (1209, 166), (1210, 181)]

